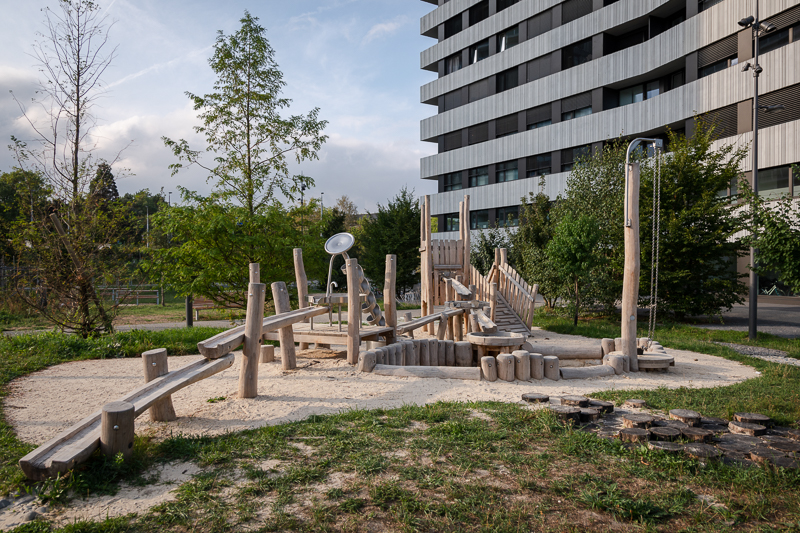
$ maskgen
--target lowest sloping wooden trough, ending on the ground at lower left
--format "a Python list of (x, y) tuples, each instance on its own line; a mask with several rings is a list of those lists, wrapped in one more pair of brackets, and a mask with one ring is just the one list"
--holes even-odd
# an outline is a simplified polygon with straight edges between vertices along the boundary
[[(215, 360), (201, 359), (145, 383), (118, 401), (132, 403), (134, 415), (139, 416), (184, 387), (230, 368), (234, 360), (233, 354)], [(20, 459), (19, 465), (25, 475), (41, 481), (63, 474), (87, 460), (100, 446), (101, 414), (101, 410), (95, 411)]]

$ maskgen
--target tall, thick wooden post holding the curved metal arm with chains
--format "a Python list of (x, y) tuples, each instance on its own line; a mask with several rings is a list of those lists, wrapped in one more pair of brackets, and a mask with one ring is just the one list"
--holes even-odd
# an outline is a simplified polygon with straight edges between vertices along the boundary
[[(625, 225), (625, 269), (622, 278), (622, 355), (630, 358), (631, 370), (639, 370), (636, 355), (636, 320), (639, 299), (639, 164), (627, 169), (628, 218)], [(630, 223), (630, 225), (627, 224)]]

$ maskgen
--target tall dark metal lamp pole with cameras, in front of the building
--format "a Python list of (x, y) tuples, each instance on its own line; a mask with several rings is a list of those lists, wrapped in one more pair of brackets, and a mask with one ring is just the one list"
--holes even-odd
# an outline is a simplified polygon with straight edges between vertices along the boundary
[[(764, 71), (758, 64), (758, 40), (762, 34), (775, 31), (777, 28), (770, 22), (761, 22), (758, 19), (758, 0), (756, 0), (755, 16), (743, 18), (739, 21), (742, 28), (752, 28), (753, 38), (755, 39), (755, 54), (753, 64), (745, 63), (742, 72), (753, 69), (753, 194), (758, 197), (758, 111), (766, 113), (783, 109), (782, 105), (762, 106), (758, 105), (758, 77)], [(758, 335), (758, 275), (753, 268), (756, 265), (756, 249), (750, 247), (750, 302), (748, 317), (748, 337), (755, 339)]]

